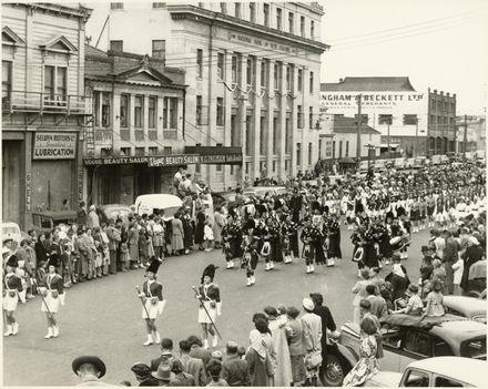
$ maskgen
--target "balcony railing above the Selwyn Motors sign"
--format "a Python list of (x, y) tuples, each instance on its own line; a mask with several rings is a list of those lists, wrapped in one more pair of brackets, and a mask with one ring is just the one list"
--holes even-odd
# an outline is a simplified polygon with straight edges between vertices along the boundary
[(91, 112), (91, 98), (74, 94), (11, 91), (2, 96), (3, 112), (40, 112), (85, 115)]

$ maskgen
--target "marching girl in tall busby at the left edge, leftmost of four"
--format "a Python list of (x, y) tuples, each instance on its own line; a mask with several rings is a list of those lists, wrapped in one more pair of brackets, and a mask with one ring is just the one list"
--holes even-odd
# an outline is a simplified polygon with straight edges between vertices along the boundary
[(16, 275), (19, 266), (16, 255), (10, 256), (6, 264), (6, 276), (3, 278), (3, 310), (6, 317), (7, 331), (3, 336), (17, 335), (19, 332), (19, 324), (13, 317), (19, 299), (26, 303), (24, 294), (22, 294), (22, 280)]

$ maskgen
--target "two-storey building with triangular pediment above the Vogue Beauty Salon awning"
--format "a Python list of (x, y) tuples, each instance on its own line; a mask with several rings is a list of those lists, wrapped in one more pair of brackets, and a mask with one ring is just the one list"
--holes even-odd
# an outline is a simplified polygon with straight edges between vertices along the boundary
[(131, 205), (141, 194), (167, 193), (176, 166), (154, 166), (149, 157), (184, 153), (184, 71), (87, 45), (84, 78), (93, 102), (94, 142), (87, 137), (84, 158), (89, 202)]

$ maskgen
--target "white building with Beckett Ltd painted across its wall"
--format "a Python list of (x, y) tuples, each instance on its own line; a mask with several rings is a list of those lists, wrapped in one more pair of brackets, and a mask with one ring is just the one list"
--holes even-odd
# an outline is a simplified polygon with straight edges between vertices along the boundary
[(327, 114), (357, 117), (358, 95), (362, 123), (380, 132), (384, 153), (389, 144), (404, 156), (427, 154), (430, 125), (427, 93), (417, 92), (408, 78), (346, 78), (321, 85), (321, 109)]

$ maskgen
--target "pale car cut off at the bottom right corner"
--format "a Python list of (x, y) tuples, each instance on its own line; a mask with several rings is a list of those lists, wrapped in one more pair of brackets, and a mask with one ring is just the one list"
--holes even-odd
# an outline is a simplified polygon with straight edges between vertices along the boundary
[(462, 388), (486, 385), (486, 362), (461, 357), (435, 357), (416, 360), (404, 373), (378, 371), (365, 387)]

